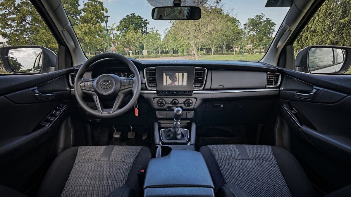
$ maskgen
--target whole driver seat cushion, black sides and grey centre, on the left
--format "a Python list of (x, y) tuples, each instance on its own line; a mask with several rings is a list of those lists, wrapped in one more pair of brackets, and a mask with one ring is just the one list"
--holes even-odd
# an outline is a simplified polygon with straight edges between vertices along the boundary
[(139, 146), (69, 148), (50, 166), (38, 196), (134, 196), (137, 172), (146, 169), (150, 158), (150, 149)]

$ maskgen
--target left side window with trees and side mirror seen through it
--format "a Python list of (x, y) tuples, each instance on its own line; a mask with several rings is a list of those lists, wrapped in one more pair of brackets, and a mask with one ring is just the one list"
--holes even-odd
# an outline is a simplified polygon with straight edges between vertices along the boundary
[(29, 0), (1, 0), (0, 18), (0, 75), (53, 70), (58, 43)]

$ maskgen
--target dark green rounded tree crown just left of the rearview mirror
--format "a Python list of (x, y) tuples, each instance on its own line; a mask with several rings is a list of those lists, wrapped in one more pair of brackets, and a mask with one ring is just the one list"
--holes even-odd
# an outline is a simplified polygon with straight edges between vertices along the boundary
[(132, 26), (135, 31), (140, 30), (144, 35), (146, 35), (148, 33), (147, 26), (149, 23), (150, 22), (147, 19), (144, 19), (139, 15), (135, 15), (135, 13), (131, 13), (119, 21), (118, 30), (122, 34), (125, 34), (128, 32), (128, 30), (130, 30), (130, 26)]

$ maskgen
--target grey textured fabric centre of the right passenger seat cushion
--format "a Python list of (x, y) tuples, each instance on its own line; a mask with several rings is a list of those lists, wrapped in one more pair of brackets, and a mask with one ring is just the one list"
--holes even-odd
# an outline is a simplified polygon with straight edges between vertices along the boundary
[(252, 196), (292, 196), (271, 146), (238, 146), (208, 146), (226, 184), (236, 185)]

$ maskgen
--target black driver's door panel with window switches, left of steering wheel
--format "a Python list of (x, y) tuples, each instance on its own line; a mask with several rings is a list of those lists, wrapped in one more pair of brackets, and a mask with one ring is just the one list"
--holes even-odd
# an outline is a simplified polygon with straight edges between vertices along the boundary
[(1, 185), (26, 192), (45, 175), (60, 148), (59, 131), (69, 127), (63, 124), (72, 107), (68, 72), (0, 76)]

